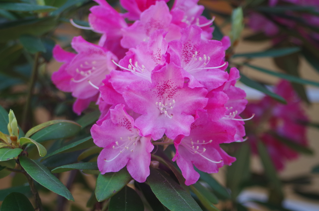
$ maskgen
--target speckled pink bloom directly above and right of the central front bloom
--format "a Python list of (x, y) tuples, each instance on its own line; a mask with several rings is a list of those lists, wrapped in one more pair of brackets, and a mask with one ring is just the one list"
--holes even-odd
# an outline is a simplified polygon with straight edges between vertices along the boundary
[(190, 25), (181, 30), (181, 39), (169, 42), (170, 61), (182, 67), (184, 77), (189, 78), (189, 87), (216, 89), (228, 79), (223, 61), (225, 51), (218, 40), (201, 39), (202, 29)]

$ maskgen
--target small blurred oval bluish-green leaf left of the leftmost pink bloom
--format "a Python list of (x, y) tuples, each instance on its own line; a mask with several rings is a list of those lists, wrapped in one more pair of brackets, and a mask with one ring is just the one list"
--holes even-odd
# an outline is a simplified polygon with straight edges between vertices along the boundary
[(37, 52), (46, 52), (46, 49), (40, 38), (32, 36), (32, 35), (21, 35), (19, 38), (23, 47), (26, 48), (31, 54), (35, 54)]

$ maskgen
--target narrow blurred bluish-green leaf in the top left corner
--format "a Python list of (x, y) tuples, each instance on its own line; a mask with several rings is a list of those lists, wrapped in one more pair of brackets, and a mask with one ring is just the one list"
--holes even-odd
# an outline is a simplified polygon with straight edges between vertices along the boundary
[(49, 12), (58, 8), (46, 5), (26, 3), (0, 3), (0, 9), (19, 12)]

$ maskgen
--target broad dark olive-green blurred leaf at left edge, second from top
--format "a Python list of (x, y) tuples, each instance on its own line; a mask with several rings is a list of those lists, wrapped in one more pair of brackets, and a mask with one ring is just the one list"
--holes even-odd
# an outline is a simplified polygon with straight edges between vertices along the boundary
[(18, 39), (22, 34), (40, 36), (54, 29), (56, 17), (28, 18), (0, 24), (0, 42)]

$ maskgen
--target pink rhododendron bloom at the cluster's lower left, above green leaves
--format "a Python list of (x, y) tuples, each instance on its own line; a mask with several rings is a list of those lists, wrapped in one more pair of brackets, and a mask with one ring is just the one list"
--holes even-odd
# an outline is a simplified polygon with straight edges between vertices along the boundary
[(104, 120), (101, 126), (93, 125), (91, 134), (94, 143), (104, 148), (98, 156), (101, 174), (120, 171), (126, 165), (137, 182), (145, 182), (150, 174), (154, 146), (150, 135), (141, 136), (124, 105), (111, 109), (110, 119)]

